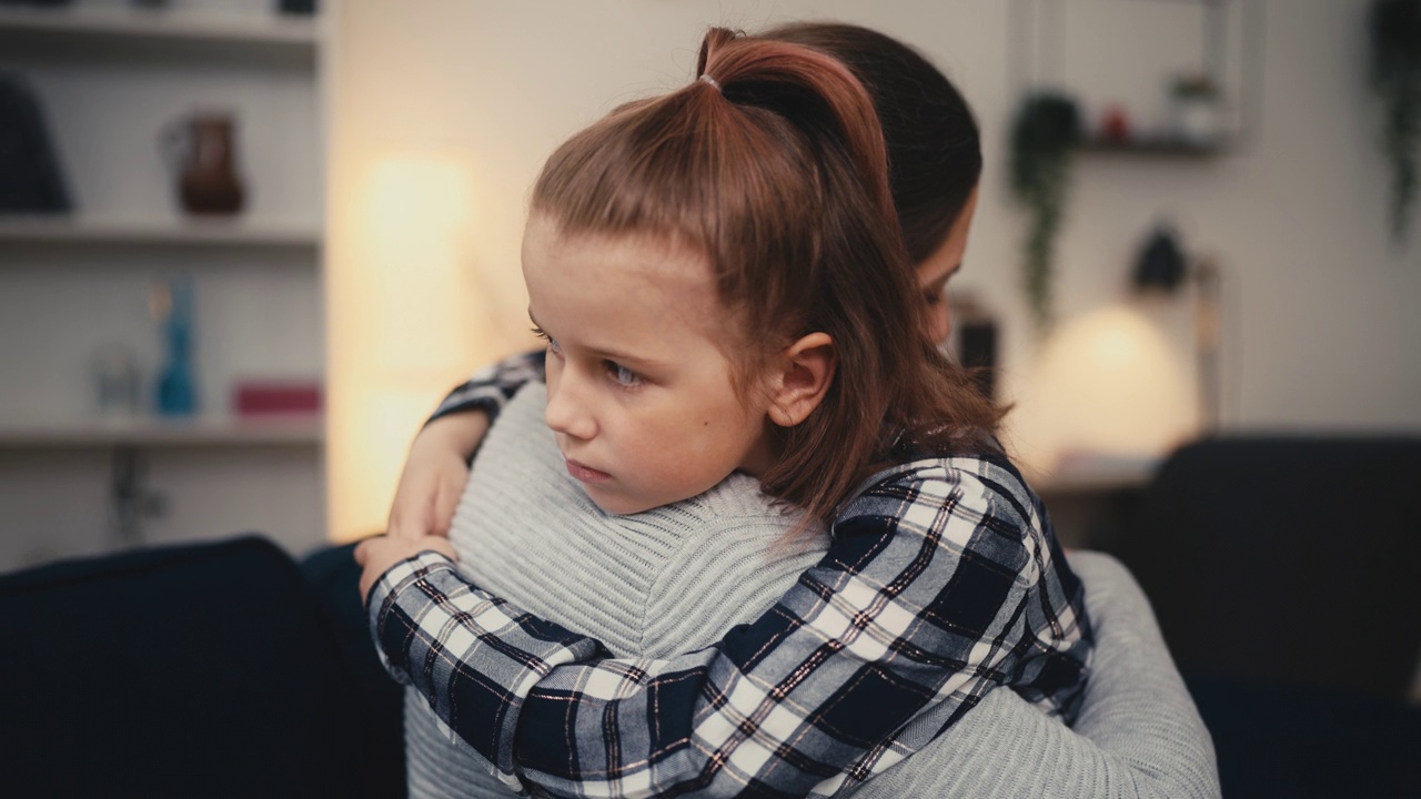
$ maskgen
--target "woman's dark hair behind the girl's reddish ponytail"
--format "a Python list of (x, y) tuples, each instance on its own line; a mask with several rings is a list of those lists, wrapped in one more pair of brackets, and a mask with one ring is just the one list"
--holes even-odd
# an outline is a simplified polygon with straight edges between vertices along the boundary
[(794, 23), (764, 38), (843, 61), (868, 90), (888, 145), (888, 183), (912, 263), (948, 237), (982, 176), (982, 141), (952, 81), (901, 41), (858, 26)]

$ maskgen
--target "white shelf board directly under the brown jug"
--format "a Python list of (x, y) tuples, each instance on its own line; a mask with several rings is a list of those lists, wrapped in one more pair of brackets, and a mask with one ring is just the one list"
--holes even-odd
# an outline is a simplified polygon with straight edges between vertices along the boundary
[(202, 218), (0, 216), (0, 243), (317, 247), (317, 225)]

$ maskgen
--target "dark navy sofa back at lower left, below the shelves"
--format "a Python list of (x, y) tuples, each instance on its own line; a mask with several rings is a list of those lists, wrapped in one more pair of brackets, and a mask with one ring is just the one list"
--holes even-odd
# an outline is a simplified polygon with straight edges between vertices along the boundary
[(0, 576), (0, 795), (404, 796), (358, 574), (246, 536)]

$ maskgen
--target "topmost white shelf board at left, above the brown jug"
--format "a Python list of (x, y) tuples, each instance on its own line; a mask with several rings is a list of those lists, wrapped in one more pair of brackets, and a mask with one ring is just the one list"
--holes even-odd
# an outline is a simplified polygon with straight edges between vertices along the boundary
[(0, 34), (128, 41), (227, 43), (314, 50), (318, 23), (311, 17), (216, 14), (176, 9), (0, 9)]

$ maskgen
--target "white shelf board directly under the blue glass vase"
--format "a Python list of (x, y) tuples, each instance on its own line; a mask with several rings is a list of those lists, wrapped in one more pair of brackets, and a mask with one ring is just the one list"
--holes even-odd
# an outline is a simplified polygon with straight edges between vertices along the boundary
[(10, 419), (0, 422), (0, 449), (54, 446), (273, 446), (318, 445), (318, 415), (190, 419)]

